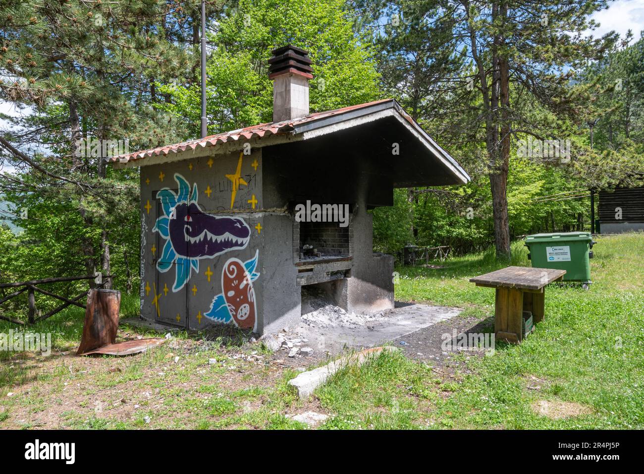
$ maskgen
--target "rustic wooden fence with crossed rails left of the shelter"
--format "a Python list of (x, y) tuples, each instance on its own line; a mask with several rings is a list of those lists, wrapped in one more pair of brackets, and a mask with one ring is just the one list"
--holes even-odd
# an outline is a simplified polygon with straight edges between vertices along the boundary
[[(18, 295), (21, 295), (26, 291), (27, 292), (27, 318), (28, 318), (27, 323), (34, 324), (36, 322), (44, 321), (45, 319), (52, 317), (59, 311), (62, 311), (71, 305), (75, 305), (75, 306), (78, 306), (79, 308), (85, 309), (85, 305), (81, 304), (79, 300), (81, 300), (83, 297), (86, 297), (87, 294), (90, 292), (90, 290), (88, 289), (87, 291), (84, 291), (77, 297), (70, 299), (68, 297), (64, 297), (64, 296), (52, 293), (51, 291), (43, 290), (43, 288), (40, 288), (39, 286), (36, 286), (36, 285), (47, 284), (47, 283), (59, 283), (59, 282), (65, 282), (65, 281), (93, 280), (96, 277), (97, 275), (83, 275), (81, 277), (44, 278), (41, 280), (31, 280), (31, 281), (23, 281), (23, 282), (17, 282), (17, 283), (0, 283), (0, 289), (19, 288), (21, 286), (23, 287), (23, 288), (20, 288), (19, 290), (14, 291), (13, 293), (10, 293), (10, 295), (6, 295), (6, 297), (3, 297), (3, 299), (0, 299), (0, 304), (3, 304), (6, 301), (9, 301), (10, 299), (17, 297)], [(102, 277), (102, 279), (111, 279), (111, 278), (112, 278), (112, 275), (106, 275)], [(100, 283), (96, 284), (95, 288), (100, 288), (105, 284), (102, 279)], [(45, 313), (44, 315), (40, 315), (39, 317), (36, 317), (37, 310), (36, 310), (35, 293), (41, 293), (43, 295), (58, 299), (63, 303), (57, 308), (54, 308), (53, 310), (49, 311), (48, 313)], [(19, 319), (14, 319), (12, 317), (5, 316), (3, 314), (0, 314), (0, 319), (13, 322), (14, 324), (26, 324), (24, 321), (20, 321)]]

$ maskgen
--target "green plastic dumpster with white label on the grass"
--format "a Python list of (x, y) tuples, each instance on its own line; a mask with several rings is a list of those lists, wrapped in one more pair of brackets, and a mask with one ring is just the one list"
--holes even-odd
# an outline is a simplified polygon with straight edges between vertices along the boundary
[(565, 270), (564, 280), (591, 283), (590, 232), (535, 233), (526, 237), (528, 259), (535, 268)]

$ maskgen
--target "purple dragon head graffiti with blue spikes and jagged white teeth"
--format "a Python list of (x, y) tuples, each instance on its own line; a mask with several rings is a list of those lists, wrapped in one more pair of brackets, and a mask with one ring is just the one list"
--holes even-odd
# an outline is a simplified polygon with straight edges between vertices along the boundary
[(214, 216), (204, 213), (198, 204), (197, 185), (190, 185), (175, 173), (178, 192), (164, 188), (156, 193), (164, 215), (156, 219), (153, 232), (166, 240), (161, 257), (156, 261), (159, 272), (175, 265), (176, 277), (172, 291), (179, 291), (189, 280), (191, 272), (199, 273), (199, 260), (211, 259), (231, 250), (246, 248), (251, 228), (237, 217)]

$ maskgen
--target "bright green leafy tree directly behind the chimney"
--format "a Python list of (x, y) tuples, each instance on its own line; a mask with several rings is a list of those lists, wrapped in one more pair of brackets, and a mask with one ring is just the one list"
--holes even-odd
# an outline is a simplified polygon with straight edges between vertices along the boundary
[[(272, 121), (271, 50), (292, 44), (313, 61), (310, 110), (319, 112), (381, 97), (378, 74), (365, 37), (355, 34), (343, 0), (242, 0), (225, 10), (207, 62), (208, 132)], [(189, 123), (198, 136), (200, 86), (164, 84), (171, 103), (159, 108)]]

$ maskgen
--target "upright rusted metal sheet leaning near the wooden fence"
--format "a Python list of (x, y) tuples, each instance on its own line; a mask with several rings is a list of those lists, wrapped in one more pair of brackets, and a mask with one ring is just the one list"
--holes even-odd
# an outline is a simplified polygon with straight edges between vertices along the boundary
[(94, 288), (87, 297), (81, 346), (77, 354), (113, 344), (117, 339), (120, 291)]

